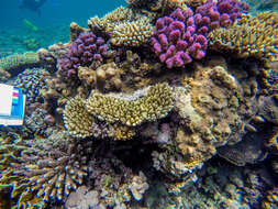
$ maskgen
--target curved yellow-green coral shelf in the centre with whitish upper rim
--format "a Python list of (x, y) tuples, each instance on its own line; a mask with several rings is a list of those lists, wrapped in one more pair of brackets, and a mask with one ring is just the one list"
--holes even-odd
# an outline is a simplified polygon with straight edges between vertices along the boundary
[(130, 127), (164, 118), (173, 109), (171, 87), (166, 82), (143, 91), (146, 92), (136, 91), (133, 96), (96, 92), (88, 98), (86, 107), (100, 120), (110, 123), (120, 122)]

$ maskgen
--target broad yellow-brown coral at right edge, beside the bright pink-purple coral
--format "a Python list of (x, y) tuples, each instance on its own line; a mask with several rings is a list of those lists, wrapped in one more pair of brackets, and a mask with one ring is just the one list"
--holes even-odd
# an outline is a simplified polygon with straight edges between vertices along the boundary
[(213, 50), (231, 51), (240, 57), (278, 61), (278, 14), (245, 15), (226, 29), (212, 31), (209, 41)]

